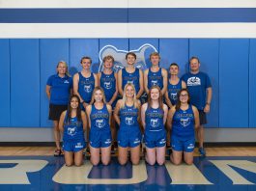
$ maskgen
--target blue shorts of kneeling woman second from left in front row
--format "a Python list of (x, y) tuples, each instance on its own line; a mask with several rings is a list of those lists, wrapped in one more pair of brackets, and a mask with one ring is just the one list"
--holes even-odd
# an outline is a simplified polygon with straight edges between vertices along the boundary
[(110, 130), (90, 130), (90, 146), (93, 148), (107, 148), (111, 145)]

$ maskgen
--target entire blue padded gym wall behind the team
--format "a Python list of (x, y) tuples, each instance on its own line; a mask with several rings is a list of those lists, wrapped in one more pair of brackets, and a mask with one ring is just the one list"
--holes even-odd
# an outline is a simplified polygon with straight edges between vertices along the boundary
[[(188, 60), (198, 56), (201, 70), (213, 84), (207, 127), (256, 127), (256, 40), (249, 39), (10, 39), (0, 40), (0, 126), (49, 127), (47, 78), (60, 60), (71, 74), (81, 69), (82, 56), (99, 67), (99, 51), (108, 44), (119, 50), (137, 50), (151, 43), (160, 53), (160, 66), (176, 62), (181, 75)], [(147, 65), (153, 49), (145, 52)]]

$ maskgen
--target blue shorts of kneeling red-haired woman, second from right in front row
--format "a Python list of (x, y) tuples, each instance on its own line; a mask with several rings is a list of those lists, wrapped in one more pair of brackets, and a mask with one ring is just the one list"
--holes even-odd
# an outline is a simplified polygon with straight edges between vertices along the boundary
[(145, 131), (144, 135), (145, 145), (147, 148), (161, 148), (166, 144), (166, 132), (160, 131)]

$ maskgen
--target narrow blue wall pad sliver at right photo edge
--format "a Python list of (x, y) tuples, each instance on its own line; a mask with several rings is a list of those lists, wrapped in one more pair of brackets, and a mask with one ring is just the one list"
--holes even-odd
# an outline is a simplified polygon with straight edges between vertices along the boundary
[(249, 50), (249, 126), (256, 127), (256, 40)]

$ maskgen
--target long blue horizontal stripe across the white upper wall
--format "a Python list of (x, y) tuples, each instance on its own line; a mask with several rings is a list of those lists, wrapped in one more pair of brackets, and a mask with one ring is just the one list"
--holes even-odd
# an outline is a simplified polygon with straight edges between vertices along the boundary
[(255, 8), (0, 9), (0, 23), (256, 22)]

